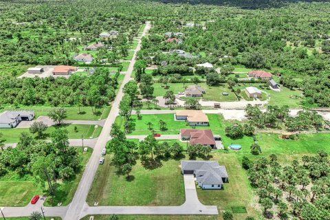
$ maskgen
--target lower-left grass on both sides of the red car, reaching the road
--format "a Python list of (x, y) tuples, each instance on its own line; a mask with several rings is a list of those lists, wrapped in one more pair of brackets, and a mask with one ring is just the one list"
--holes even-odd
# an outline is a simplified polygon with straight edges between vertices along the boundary
[[(89, 148), (87, 152), (82, 153), (82, 149), (78, 148), (78, 151), (82, 155), (81, 164), (84, 169), (93, 150)], [(57, 206), (58, 202), (62, 202), (63, 206), (66, 206), (72, 201), (82, 175), (83, 170), (72, 181), (64, 181), (58, 184), (56, 195), (54, 197), (47, 197), (45, 206)], [(19, 175), (14, 174), (10, 174), (9, 178), (15, 178), (17, 181), (0, 181), (0, 206), (26, 206), (34, 195), (44, 194), (41, 187), (34, 184), (33, 181), (21, 181), (19, 180)], [(33, 179), (33, 177), (24, 178)]]

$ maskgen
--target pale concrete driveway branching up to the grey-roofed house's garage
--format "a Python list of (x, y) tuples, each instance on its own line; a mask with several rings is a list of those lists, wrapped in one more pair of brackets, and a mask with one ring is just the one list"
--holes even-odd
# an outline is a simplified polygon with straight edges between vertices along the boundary
[(219, 214), (217, 206), (204, 206), (197, 197), (195, 178), (184, 175), (186, 201), (181, 206), (96, 206), (85, 205), (87, 214)]

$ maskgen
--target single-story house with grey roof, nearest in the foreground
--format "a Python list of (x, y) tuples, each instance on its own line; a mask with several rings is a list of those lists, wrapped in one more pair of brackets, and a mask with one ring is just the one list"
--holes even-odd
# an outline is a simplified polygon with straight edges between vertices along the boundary
[(228, 182), (225, 166), (217, 161), (181, 160), (181, 170), (184, 175), (194, 175), (202, 189), (221, 189), (223, 183)]

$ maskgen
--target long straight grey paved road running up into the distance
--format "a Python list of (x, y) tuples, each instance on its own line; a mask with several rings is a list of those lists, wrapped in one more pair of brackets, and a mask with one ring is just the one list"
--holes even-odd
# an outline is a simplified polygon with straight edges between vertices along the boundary
[[(150, 23), (146, 23), (146, 27), (144, 28), (144, 32), (142, 36), (144, 36), (144, 34), (148, 31), (149, 28), (150, 28)], [(100, 137), (98, 137), (98, 140), (94, 147), (93, 154), (89, 159), (83, 177), (81, 178), (80, 183), (78, 185), (78, 189), (76, 190), (76, 194), (74, 195), (74, 199), (72, 200), (72, 203), (70, 203), (69, 209), (67, 210), (67, 214), (64, 220), (75, 220), (75, 219), (78, 220), (80, 219), (80, 217), (83, 217), (85, 215), (85, 214), (81, 215), (81, 212), (83, 210), (83, 207), (86, 206), (85, 201), (87, 199), (89, 188), (91, 187), (96, 170), (98, 169), (98, 159), (100, 159), (102, 148), (104, 148), (104, 146), (107, 144), (109, 133), (111, 131), (111, 126), (113, 122), (115, 122), (115, 117), (119, 113), (119, 103), (120, 100), (122, 100), (122, 97), (124, 96), (122, 89), (124, 85), (128, 83), (129, 80), (131, 80), (131, 74), (133, 72), (133, 67), (135, 64), (135, 57), (140, 49), (141, 49), (141, 40), (137, 44), (137, 47), (134, 51), (133, 58), (131, 60), (131, 63), (129, 64), (129, 69), (126, 72), (122, 85), (120, 86), (120, 89), (118, 91), (118, 94), (115, 97), (115, 100), (113, 101), (109, 116), (105, 121)]]

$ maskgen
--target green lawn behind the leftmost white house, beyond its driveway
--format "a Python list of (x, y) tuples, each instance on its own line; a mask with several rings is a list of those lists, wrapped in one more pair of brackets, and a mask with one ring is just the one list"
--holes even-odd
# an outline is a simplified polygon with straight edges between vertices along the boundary
[[(119, 77), (118, 77), (119, 80)], [(17, 109), (13, 106), (3, 106), (3, 109), (0, 109), (0, 112), (5, 111), (5, 109)], [(21, 106), (17, 110), (33, 110), (34, 118), (39, 116), (47, 116), (52, 107), (46, 105), (33, 105), (33, 106)], [(65, 107), (67, 110), (66, 120), (100, 120), (108, 117), (111, 106), (96, 108), (96, 113), (93, 113), (91, 107)]]

